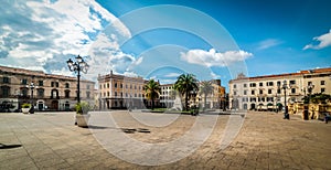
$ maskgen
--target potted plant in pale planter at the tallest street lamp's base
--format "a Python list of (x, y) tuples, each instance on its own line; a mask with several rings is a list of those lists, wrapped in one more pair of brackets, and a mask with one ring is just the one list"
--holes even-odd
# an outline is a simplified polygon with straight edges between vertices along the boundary
[(89, 118), (90, 106), (86, 102), (77, 103), (76, 106), (76, 121), (79, 127), (87, 127)]

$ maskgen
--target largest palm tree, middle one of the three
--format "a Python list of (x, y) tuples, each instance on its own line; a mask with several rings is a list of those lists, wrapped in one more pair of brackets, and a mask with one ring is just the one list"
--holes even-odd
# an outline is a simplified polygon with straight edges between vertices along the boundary
[(174, 89), (185, 95), (185, 110), (189, 110), (189, 93), (197, 88), (197, 79), (193, 74), (182, 74), (174, 83)]

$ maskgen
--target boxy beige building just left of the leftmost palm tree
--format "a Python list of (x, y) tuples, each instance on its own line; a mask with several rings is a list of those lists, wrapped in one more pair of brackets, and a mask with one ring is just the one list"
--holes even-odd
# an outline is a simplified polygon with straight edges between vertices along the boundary
[(98, 76), (99, 109), (143, 108), (145, 79), (113, 74)]

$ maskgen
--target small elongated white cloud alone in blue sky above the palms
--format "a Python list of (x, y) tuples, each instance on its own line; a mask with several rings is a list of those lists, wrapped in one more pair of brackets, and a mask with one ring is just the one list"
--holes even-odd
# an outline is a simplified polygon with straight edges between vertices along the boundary
[(181, 52), (181, 59), (191, 64), (211, 66), (227, 66), (235, 62), (244, 61), (253, 56), (252, 53), (245, 51), (226, 51), (224, 53), (216, 52), (214, 49), (210, 51), (190, 50), (186, 53)]

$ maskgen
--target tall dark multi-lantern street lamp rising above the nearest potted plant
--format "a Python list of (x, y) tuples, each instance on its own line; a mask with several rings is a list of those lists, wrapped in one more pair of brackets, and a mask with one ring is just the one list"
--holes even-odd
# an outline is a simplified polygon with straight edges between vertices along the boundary
[(82, 56), (76, 56), (76, 61), (73, 62), (72, 59), (66, 61), (66, 64), (71, 72), (75, 72), (77, 74), (77, 103), (81, 103), (81, 72), (87, 73), (89, 65), (84, 61)]

